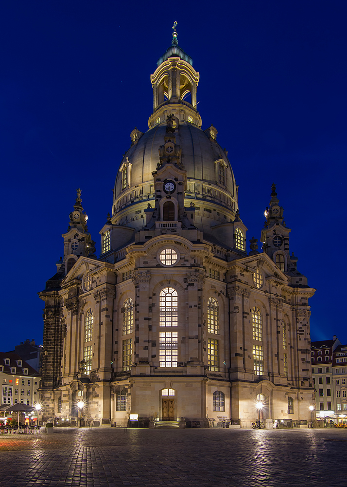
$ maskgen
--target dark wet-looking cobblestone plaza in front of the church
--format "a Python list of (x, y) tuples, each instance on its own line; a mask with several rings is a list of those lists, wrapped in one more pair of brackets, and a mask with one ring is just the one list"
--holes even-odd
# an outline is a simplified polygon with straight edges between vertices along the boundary
[(59, 428), (1, 435), (0, 486), (345, 486), (347, 431)]

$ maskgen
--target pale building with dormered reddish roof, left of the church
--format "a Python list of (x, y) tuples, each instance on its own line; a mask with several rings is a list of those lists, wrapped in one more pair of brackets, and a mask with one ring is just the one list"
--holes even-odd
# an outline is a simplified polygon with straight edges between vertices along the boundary
[(2, 405), (21, 402), (34, 406), (39, 402), (40, 374), (21, 356), (0, 352), (0, 381)]

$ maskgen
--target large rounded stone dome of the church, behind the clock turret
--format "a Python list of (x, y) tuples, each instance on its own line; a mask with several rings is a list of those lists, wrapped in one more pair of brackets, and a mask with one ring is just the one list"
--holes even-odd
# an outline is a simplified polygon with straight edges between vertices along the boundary
[[(114, 188), (112, 223), (140, 228), (145, 225), (143, 210), (155, 201), (153, 175), (159, 162), (159, 147), (164, 144), (166, 122), (161, 122), (138, 138), (123, 157)], [(211, 136), (210, 131), (213, 130)], [(135, 132), (136, 133), (136, 132)], [(207, 214), (208, 225), (234, 220), (237, 205), (235, 178), (226, 152), (216, 142), (216, 130), (201, 130), (196, 125), (180, 120), (174, 132), (175, 143), (181, 148), (184, 169), (187, 171), (185, 206), (199, 208), (200, 217)], [(129, 184), (124, 187), (123, 169), (129, 167)], [(221, 166), (225, 174), (220, 181)], [(223, 170), (223, 169), (222, 169)], [(224, 183), (224, 184), (223, 184)], [(215, 210), (213, 221), (212, 213)], [(201, 224), (203, 221), (200, 220)], [(199, 227), (198, 222), (196, 225)], [(202, 228), (201, 228), (202, 229)]]

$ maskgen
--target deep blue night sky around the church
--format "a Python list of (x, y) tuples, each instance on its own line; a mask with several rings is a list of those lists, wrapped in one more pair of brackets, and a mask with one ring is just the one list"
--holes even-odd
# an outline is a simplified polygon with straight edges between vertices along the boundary
[(260, 239), (277, 183), (290, 250), (317, 289), (312, 339), (346, 343), (346, 18), (345, 0), (2, 1), (1, 350), (42, 343), (37, 292), (63, 254), (77, 187), (99, 253), (174, 20), (200, 73), (202, 128), (213, 123), (229, 151), (247, 240)]

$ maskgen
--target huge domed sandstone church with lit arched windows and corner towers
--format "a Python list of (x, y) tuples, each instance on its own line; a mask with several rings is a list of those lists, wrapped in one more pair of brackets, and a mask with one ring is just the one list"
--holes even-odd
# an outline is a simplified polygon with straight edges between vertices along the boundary
[(149, 130), (130, 133), (121, 159), (100, 257), (78, 189), (64, 257), (39, 293), (43, 419), (76, 419), (81, 399), (103, 425), (139, 414), (141, 425), (250, 426), (258, 400), (268, 425), (310, 417), (314, 289), (289, 252), (275, 185), (262, 251), (252, 238), (247, 254), (227, 152), (215, 127), (201, 129), (199, 74), (176, 36), (151, 76)]

